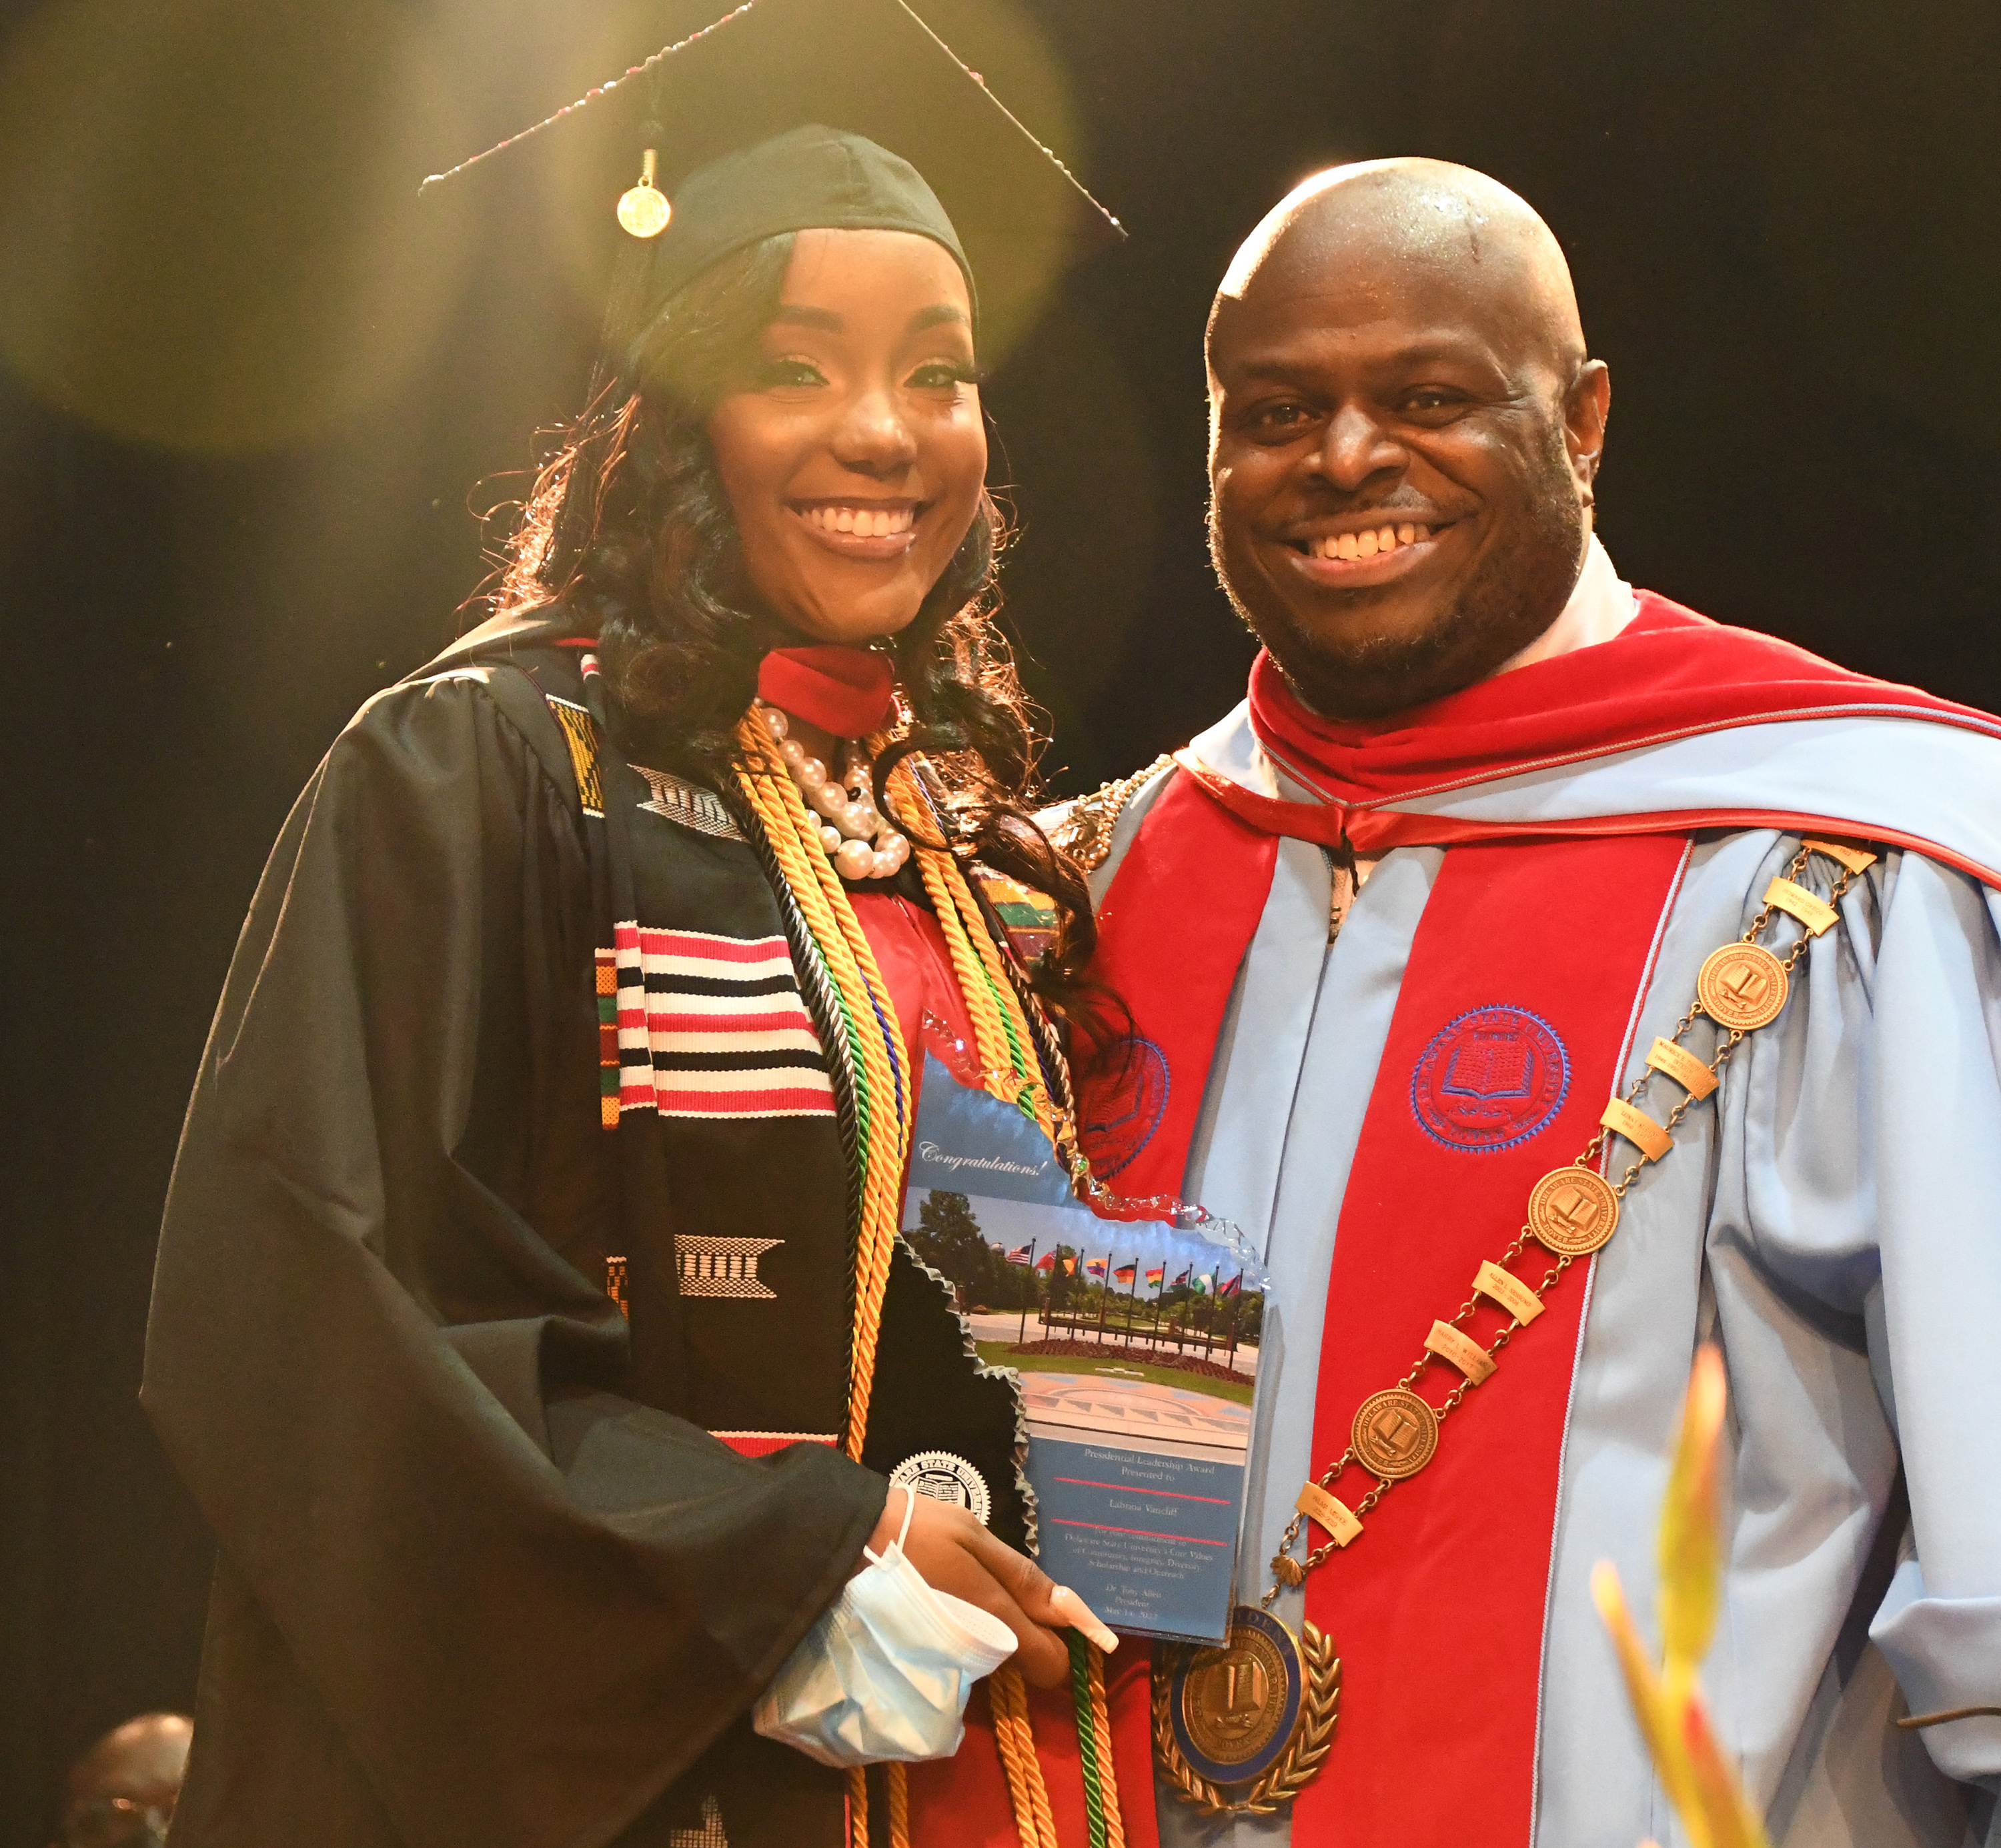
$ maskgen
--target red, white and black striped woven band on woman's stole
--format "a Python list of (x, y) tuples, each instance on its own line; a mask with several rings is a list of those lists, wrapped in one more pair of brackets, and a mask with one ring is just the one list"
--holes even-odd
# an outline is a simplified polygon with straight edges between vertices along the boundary
[(782, 936), (620, 924), (618, 1108), (832, 1116), (834, 1086)]

